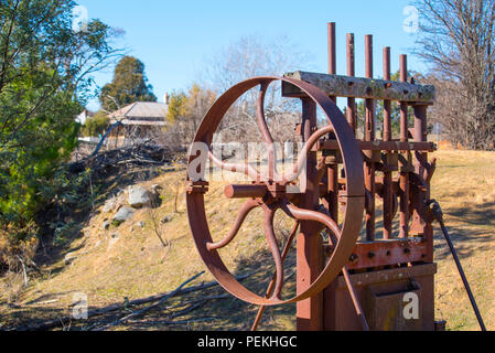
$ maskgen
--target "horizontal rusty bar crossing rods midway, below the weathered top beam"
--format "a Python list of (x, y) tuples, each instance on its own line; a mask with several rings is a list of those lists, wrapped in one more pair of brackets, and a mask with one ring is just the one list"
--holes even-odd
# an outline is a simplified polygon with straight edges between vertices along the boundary
[[(399, 141), (357, 141), (362, 151), (428, 151), (434, 152), (433, 142), (399, 142)], [(337, 150), (336, 141), (321, 141), (316, 146), (320, 150)]]

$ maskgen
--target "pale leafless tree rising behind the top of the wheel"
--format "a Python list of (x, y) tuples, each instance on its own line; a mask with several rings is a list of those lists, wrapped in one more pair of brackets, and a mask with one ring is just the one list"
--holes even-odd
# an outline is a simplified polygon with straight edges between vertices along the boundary
[[(288, 38), (272, 41), (259, 35), (243, 36), (217, 54), (207, 64), (206, 85), (223, 94), (241, 81), (256, 76), (283, 76), (295, 69), (308, 69), (309, 55), (299, 51)], [(298, 101), (282, 99), (280, 85), (272, 84), (266, 95), (265, 113), (273, 138), (286, 142), (293, 137), (293, 128), (300, 121)], [(258, 90), (251, 89), (228, 111), (220, 126), (223, 142), (256, 142), (259, 129), (256, 124)]]

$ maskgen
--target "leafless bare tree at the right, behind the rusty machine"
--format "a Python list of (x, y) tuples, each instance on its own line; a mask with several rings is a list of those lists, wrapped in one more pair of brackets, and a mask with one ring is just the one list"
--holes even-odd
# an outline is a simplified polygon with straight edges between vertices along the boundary
[(434, 110), (453, 142), (493, 150), (495, 143), (495, 0), (418, 0), (418, 54), (439, 86)]

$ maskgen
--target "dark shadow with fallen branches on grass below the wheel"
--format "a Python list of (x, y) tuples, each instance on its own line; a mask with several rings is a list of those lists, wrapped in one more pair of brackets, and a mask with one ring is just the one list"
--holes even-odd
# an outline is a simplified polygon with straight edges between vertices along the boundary
[[(295, 254), (292, 252), (287, 259), (287, 285), (284, 297), (292, 297), (295, 291)], [(249, 274), (250, 276), (241, 284), (259, 296), (266, 293), (268, 284), (273, 274), (271, 253), (262, 250), (250, 258), (243, 258), (233, 270), (235, 276)], [(201, 278), (198, 279), (201, 280)], [(190, 286), (202, 282), (196, 280)], [(172, 290), (172, 289), (171, 289)], [(0, 330), (22, 329), (33, 327), (44, 321), (58, 320), (71, 314), (72, 309), (43, 308), (41, 303), (45, 300), (56, 298), (43, 296), (33, 300), (30, 306), (9, 310), (9, 318), (3, 315)], [(119, 311), (105, 315), (88, 318), (88, 320), (65, 322), (53, 330), (69, 329), (73, 331), (85, 331), (104, 327), (118, 318), (128, 315), (131, 311), (138, 311), (151, 303), (141, 307), (122, 308)], [(190, 311), (189, 308), (194, 307)], [(89, 310), (98, 308), (89, 308)], [(228, 295), (219, 286), (192, 292), (189, 295), (171, 298), (162, 307), (149, 311), (147, 314), (123, 324), (116, 325), (111, 330), (118, 331), (249, 331), (256, 318), (259, 307), (251, 306)], [(0, 311), (1, 312), (1, 311)], [(295, 318), (295, 306), (281, 306), (267, 308), (259, 330), (293, 330)], [(62, 322), (62, 321), (61, 321)]]

